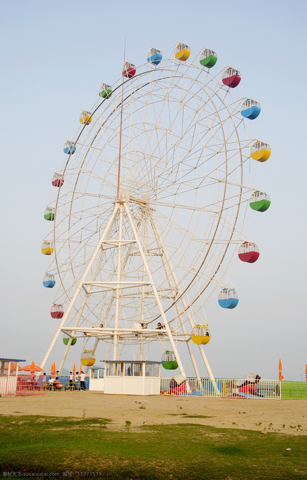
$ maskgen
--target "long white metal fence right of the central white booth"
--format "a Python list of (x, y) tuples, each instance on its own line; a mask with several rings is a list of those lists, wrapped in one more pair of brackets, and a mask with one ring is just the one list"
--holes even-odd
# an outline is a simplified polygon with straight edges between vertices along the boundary
[(160, 395), (281, 399), (279, 380), (161, 378)]

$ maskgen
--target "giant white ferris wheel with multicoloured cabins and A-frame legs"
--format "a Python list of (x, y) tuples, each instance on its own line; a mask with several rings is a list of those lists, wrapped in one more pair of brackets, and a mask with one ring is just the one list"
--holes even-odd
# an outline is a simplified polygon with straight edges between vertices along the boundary
[(42, 368), (63, 335), (59, 370), (78, 340), (85, 366), (94, 364), (99, 342), (113, 360), (127, 348), (146, 360), (158, 342), (165, 368), (185, 375), (183, 342), (196, 377), (199, 348), (213, 379), (205, 304), (216, 296), (216, 308), (235, 308), (227, 267), (236, 252), (243, 262), (259, 257), (242, 226), (249, 206), (270, 206), (250, 171), (271, 147), (248, 139), (245, 123), (260, 104), (233, 93), (238, 70), (212, 73), (213, 50), (191, 60), (189, 46), (177, 43), (169, 58), (149, 48), (146, 59), (138, 67), (124, 61), (118, 83), (101, 84), (52, 179), (42, 245), (52, 262), (43, 283), (57, 286), (51, 316), (60, 324)]

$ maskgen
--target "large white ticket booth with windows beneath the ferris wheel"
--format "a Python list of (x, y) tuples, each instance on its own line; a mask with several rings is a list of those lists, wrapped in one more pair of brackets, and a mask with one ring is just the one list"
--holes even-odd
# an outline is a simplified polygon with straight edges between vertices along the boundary
[(161, 362), (105, 360), (105, 394), (160, 395)]

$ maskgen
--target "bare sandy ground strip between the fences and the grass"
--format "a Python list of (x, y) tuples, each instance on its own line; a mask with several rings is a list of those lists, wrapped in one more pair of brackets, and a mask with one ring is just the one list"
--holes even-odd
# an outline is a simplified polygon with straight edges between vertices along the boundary
[[(136, 403), (137, 402), (137, 403)], [(142, 402), (139, 404), (138, 402)], [(139, 408), (145, 405), (145, 408)], [(198, 423), (221, 428), (307, 435), (307, 400), (104, 395), (92, 391), (46, 392), (45, 396), (0, 398), (1, 415), (98, 417), (112, 420), (110, 429), (170, 423)], [(185, 418), (187, 415), (210, 418)], [(261, 423), (260, 423), (261, 422)], [(260, 425), (259, 425), (260, 423)], [(258, 424), (258, 425), (257, 425)], [(283, 428), (283, 424), (285, 427)], [(291, 428), (290, 425), (296, 428)], [(298, 430), (298, 425), (301, 425)]]

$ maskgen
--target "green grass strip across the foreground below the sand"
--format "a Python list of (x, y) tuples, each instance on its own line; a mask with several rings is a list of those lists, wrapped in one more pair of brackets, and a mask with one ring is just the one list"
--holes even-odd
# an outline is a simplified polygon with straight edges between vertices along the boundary
[(0, 416), (1, 472), (59, 472), (62, 478), (63, 472), (75, 478), (101, 472), (107, 480), (307, 479), (307, 436), (193, 423), (133, 432), (132, 422), (128, 432), (125, 417), (124, 431), (90, 427), (103, 420), (110, 422)]

